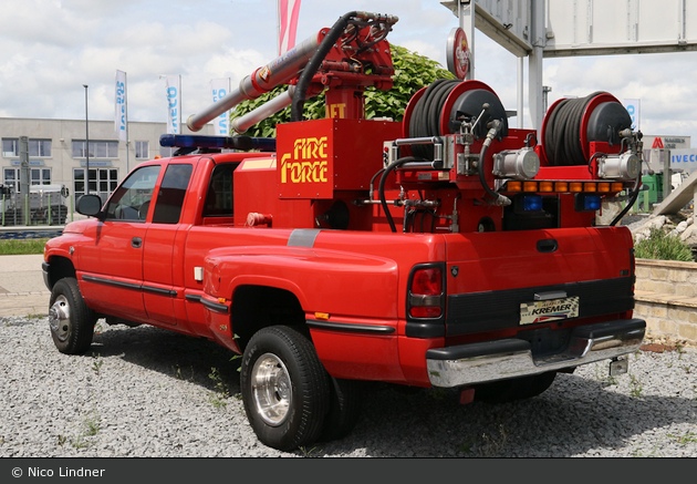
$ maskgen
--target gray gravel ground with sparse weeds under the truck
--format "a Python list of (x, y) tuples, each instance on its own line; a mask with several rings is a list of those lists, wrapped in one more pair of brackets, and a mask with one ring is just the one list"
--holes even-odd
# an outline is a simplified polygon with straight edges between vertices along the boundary
[(0, 457), (697, 456), (690, 348), (639, 351), (615, 380), (604, 362), (581, 367), (503, 405), (370, 384), (351, 435), (285, 453), (247, 423), (227, 350), (146, 326), (97, 329), (70, 357), (45, 318), (0, 318)]

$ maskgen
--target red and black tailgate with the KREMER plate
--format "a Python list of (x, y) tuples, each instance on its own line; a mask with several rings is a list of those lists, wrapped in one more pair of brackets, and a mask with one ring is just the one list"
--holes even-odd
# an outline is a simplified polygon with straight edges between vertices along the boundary
[(447, 336), (533, 329), (634, 308), (626, 227), (454, 235), (446, 244)]

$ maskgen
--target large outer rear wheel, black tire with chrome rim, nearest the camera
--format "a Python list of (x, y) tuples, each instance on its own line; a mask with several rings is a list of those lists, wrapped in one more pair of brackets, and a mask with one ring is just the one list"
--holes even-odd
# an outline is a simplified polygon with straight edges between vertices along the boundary
[(287, 326), (259, 330), (245, 349), (240, 371), (245, 412), (262, 443), (292, 451), (320, 437), (329, 374), (305, 336)]

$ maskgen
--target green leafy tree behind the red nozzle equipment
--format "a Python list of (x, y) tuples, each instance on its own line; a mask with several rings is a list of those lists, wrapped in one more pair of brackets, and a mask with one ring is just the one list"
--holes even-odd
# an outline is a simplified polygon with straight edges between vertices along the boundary
[[(392, 117), (395, 121), (402, 121), (407, 103), (418, 90), (429, 85), (437, 79), (455, 78), (436, 61), (398, 45), (391, 44), (389, 48), (395, 69), (393, 87), (389, 91), (379, 91), (374, 87), (365, 90), (365, 117), (368, 120), (373, 117)], [(288, 86), (280, 85), (256, 100), (242, 101), (230, 114), (230, 120), (249, 113), (287, 89)], [(303, 113), (305, 120), (323, 119), (324, 94), (305, 101)], [(288, 122), (290, 122), (290, 106), (257, 123), (245, 134), (254, 137), (274, 137), (275, 125)]]

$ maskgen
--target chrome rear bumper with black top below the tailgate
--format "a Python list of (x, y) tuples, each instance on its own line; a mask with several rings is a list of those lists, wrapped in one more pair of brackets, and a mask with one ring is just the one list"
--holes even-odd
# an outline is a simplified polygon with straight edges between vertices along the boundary
[(642, 319), (576, 327), (564, 351), (540, 358), (520, 339), (431, 349), (426, 352), (428, 379), (434, 387), (451, 388), (575, 368), (638, 350), (645, 331)]

